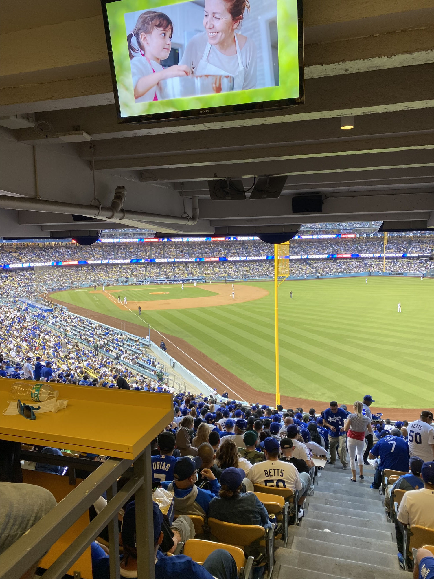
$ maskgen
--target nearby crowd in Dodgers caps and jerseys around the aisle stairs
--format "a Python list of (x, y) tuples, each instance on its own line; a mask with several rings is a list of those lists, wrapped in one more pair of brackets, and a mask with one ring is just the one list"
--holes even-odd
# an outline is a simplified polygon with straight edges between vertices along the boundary
[[(307, 413), (303, 408), (284, 410), (281, 405), (276, 408), (259, 403), (243, 405), (218, 394), (209, 397), (176, 394), (173, 420), (151, 444), (153, 487), (173, 493), (175, 515), (175, 521), (170, 524), (163, 519), (159, 506), (153, 503), (156, 577), (176, 579), (185, 575), (192, 579), (236, 579), (234, 560), (224, 549), (215, 551), (203, 566), (185, 555), (167, 554), (172, 555), (179, 543), (191, 538), (209, 539), (207, 519), (262, 526), (273, 532), (274, 519), (253, 494), (255, 484), (291, 489), (297, 505), (295, 516), (303, 518), (304, 500), (314, 492), (313, 459), (321, 456), (330, 466), (338, 457), (344, 470), (350, 466), (352, 482), (363, 479), (363, 465), (371, 464), (375, 468), (372, 489), (381, 488), (385, 470), (400, 472), (386, 492), (390, 496), (392, 490), (405, 490), (395, 521), (398, 559), (403, 565), (404, 526), (421, 525), (434, 530), (433, 414), (422, 411), (418, 420), (391, 424), (388, 419), (382, 420), (381, 414), (371, 412), (373, 402), (370, 395), (365, 395), (363, 402), (355, 401), (350, 411), (347, 406), (332, 401), (321, 412), (311, 408)], [(52, 455), (69, 452), (48, 447), (31, 449)], [(86, 456), (100, 461), (106, 459)], [(43, 464), (43, 461), (25, 463), (23, 467), (64, 474), (61, 467)], [(119, 479), (118, 489), (126, 480)], [(32, 500), (31, 507), (17, 508), (19, 500), (27, 504), (27, 485), (0, 483), (0, 504), (3, 505), (0, 530), (8, 531), (0, 535), (0, 554), (56, 504), (45, 489), (35, 492), (37, 494), (32, 493), (32, 497), (36, 499)], [(95, 511), (99, 512), (105, 504), (104, 497), (98, 499)], [(385, 506), (390, 508), (390, 501)], [(27, 522), (20, 522), (16, 529), (18, 519), (24, 516)], [(203, 518), (203, 533), (195, 528), (190, 516)], [(123, 506), (119, 519), (122, 521), (120, 546), (123, 548), (120, 576), (137, 577), (134, 497)], [(251, 549), (253, 556), (260, 560), (263, 547), (257, 545)], [(103, 533), (92, 544), (91, 552), (94, 577), (108, 579), (110, 554)], [(428, 557), (429, 552), (428, 555), (418, 554), (414, 577), (429, 577), (424, 574)], [(421, 576), (418, 574), (420, 567)], [(259, 576), (261, 573), (256, 575)]]

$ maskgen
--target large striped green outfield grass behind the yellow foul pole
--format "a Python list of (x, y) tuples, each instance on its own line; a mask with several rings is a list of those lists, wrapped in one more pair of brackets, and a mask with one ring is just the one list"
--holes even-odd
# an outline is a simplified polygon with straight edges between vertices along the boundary
[[(238, 305), (143, 312), (141, 318), (120, 312), (89, 290), (60, 292), (58, 298), (127, 321), (149, 322), (187, 340), (255, 389), (271, 392), (273, 283), (253, 285), (270, 295)], [(286, 281), (279, 288), (281, 393), (340, 403), (371, 394), (375, 406), (432, 408), (433, 295), (433, 281), (411, 277), (369, 277), (367, 284), (364, 277)]]

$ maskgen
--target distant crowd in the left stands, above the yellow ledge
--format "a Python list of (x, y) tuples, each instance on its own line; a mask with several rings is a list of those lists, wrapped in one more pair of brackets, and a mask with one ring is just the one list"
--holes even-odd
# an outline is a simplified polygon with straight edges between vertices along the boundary
[(114, 328), (60, 308), (45, 314), (13, 303), (3, 303), (0, 323), (0, 376), (174, 391), (167, 369), (149, 353), (144, 340)]

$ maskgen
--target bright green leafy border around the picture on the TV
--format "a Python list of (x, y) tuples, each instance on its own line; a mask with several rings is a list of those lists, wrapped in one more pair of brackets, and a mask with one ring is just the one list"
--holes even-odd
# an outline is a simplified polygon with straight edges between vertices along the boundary
[[(105, 3), (107, 1), (108, 3)], [(128, 57), (127, 30), (124, 14), (137, 10), (161, 8), (162, 6), (183, 3), (186, 0), (102, 0), (103, 13), (106, 10), (105, 24), (109, 53), (112, 58), (113, 85), (117, 87), (119, 99), (118, 115), (122, 119), (145, 115), (160, 116), (160, 113), (191, 111), (227, 105), (246, 105), (264, 101), (295, 100), (302, 95), (303, 50), (299, 42), (299, 22), (301, 22), (301, 0), (277, 0), (277, 30), (279, 53), (279, 86), (262, 89), (249, 89), (237, 93), (207, 94), (200, 97), (172, 98), (164, 101), (134, 101), (133, 79), (131, 78)], [(187, 0), (188, 1), (188, 0)], [(287, 39), (282, 46), (280, 39)], [(300, 58), (301, 55), (301, 58)], [(300, 68), (301, 67), (301, 68)], [(234, 98), (234, 95), (237, 98)], [(271, 104), (271, 103), (270, 103)], [(250, 108), (250, 107), (249, 107)], [(161, 115), (163, 116), (163, 115)], [(167, 115), (164, 115), (167, 116)]]

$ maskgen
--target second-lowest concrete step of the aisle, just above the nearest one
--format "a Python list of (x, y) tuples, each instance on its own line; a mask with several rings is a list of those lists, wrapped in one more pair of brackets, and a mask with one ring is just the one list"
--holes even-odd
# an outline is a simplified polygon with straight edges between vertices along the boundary
[(377, 565), (378, 567), (384, 567), (385, 569), (399, 569), (399, 562), (396, 554), (391, 555), (389, 553), (370, 551), (369, 549), (365, 550), (359, 547), (337, 545), (326, 543), (325, 541), (317, 541), (315, 539), (295, 536), (292, 541), (291, 549), (302, 553), (315, 553), (315, 555), (344, 559), (353, 563), (366, 563), (366, 561), (369, 561), (370, 565)]

